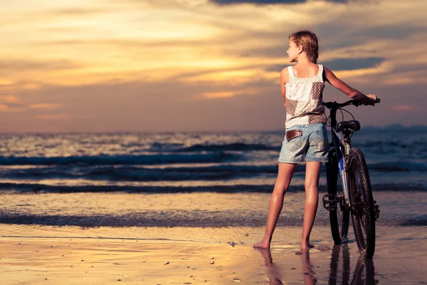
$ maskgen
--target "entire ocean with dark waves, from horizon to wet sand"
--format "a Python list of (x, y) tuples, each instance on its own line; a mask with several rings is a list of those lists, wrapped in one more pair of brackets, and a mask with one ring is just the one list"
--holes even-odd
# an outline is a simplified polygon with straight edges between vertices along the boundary
[[(0, 223), (228, 227), (265, 224), (284, 130), (236, 133), (0, 135)], [(366, 127), (367, 160), (385, 225), (427, 225), (427, 128)], [(300, 225), (305, 165), (279, 224)], [(320, 201), (327, 192), (325, 166)], [(320, 204), (317, 224), (328, 224)]]

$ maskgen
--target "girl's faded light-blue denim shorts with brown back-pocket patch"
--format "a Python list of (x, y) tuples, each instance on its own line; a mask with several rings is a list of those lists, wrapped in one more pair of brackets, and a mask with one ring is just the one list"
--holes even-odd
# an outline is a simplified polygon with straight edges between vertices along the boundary
[(278, 162), (298, 163), (304, 161), (327, 162), (329, 141), (325, 123), (293, 125), (287, 130), (302, 130), (302, 135), (288, 142), (286, 136)]

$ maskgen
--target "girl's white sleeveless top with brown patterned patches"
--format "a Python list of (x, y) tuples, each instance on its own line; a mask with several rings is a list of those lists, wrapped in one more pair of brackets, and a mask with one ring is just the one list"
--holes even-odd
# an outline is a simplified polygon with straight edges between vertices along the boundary
[(293, 125), (326, 123), (325, 107), (322, 105), (323, 66), (319, 64), (316, 76), (297, 78), (292, 66), (288, 66), (289, 82), (286, 88), (286, 123), (285, 128)]

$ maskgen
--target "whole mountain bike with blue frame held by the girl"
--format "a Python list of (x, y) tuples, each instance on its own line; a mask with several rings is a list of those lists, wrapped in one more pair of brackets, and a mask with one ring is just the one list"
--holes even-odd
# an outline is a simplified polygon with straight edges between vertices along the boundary
[[(379, 99), (376, 100), (379, 103)], [(344, 108), (347, 105), (362, 105), (357, 100), (345, 103), (325, 102), (330, 109), (329, 162), (326, 164), (328, 194), (323, 197), (323, 206), (330, 211), (334, 244), (342, 244), (349, 232), (349, 217), (352, 215), (354, 235), (362, 257), (372, 258), (375, 251), (375, 220), (379, 207), (372, 197), (367, 163), (361, 150), (354, 147), (351, 138), (360, 124)], [(353, 120), (337, 123), (337, 110), (346, 111)], [(344, 116), (343, 116), (344, 117)]]

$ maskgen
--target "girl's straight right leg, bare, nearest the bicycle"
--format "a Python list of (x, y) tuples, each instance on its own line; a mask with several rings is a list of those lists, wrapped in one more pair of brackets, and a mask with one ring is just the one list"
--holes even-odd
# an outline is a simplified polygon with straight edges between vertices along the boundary
[(305, 170), (305, 206), (304, 206), (304, 224), (302, 225), (301, 249), (310, 247), (310, 233), (315, 222), (317, 204), (319, 195), (319, 175), (322, 162), (306, 162)]

